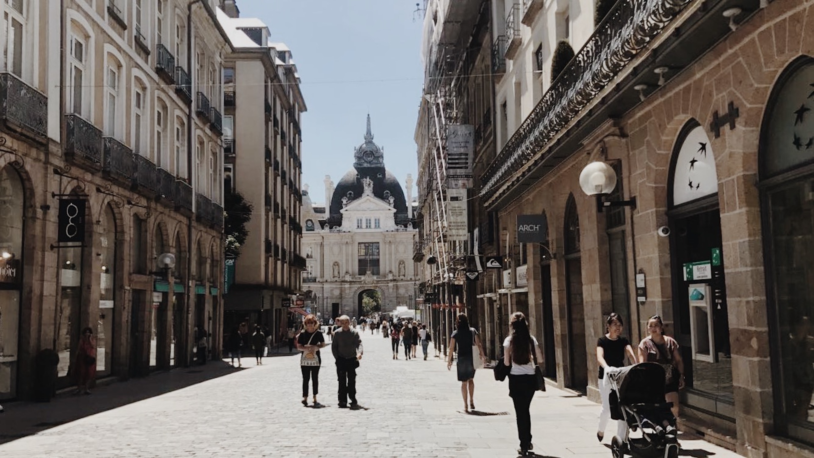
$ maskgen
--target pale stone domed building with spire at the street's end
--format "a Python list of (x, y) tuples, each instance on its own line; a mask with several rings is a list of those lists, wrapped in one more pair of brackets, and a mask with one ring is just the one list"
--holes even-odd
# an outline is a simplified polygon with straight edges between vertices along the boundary
[[(412, 258), (418, 240), (412, 205), (396, 176), (384, 168), (383, 148), (374, 143), (367, 117), (365, 141), (354, 150), (353, 169), (334, 187), (325, 178), (326, 205), (313, 204), (307, 187), (301, 212), (306, 271), (303, 289), (312, 312), (323, 319), (365, 315), (365, 297), (381, 312), (414, 309), (418, 269)], [(368, 301), (370, 302), (370, 301)]]

